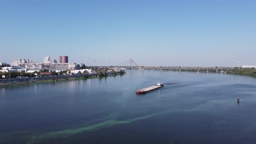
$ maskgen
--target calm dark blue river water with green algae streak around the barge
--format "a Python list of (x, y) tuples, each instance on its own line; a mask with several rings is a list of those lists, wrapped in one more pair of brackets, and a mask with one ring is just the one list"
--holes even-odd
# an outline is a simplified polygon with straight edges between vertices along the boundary
[[(0, 87), (0, 143), (255, 143), (256, 79), (220, 73), (126, 72)], [(165, 86), (135, 94), (158, 81)]]

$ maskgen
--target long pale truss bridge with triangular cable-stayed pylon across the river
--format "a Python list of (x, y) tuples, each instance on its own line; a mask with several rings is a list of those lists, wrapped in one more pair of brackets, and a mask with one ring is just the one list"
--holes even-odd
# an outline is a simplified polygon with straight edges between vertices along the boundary
[[(129, 66), (126, 66), (128, 65)], [(134, 64), (135, 66), (133, 66)], [(123, 69), (171, 69), (171, 70), (228, 70), (234, 69), (234, 67), (224, 67), (224, 66), (139, 66), (132, 59), (128, 59), (124, 62), (117, 64), (116, 66), (111, 66), (110, 68), (123, 68)]]

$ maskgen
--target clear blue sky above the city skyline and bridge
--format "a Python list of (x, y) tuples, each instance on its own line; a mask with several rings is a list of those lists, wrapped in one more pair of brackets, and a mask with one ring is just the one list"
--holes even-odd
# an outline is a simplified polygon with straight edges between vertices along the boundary
[(255, 0), (0, 0), (0, 62), (256, 65)]

